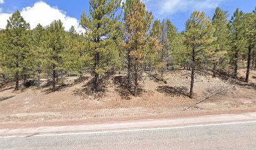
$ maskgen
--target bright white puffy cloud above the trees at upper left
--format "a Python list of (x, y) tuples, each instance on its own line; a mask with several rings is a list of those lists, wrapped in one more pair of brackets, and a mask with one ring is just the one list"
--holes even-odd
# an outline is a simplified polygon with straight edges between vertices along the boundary
[[(0, 28), (5, 28), (9, 16), (11, 14), (0, 13)], [(25, 21), (29, 22), (31, 29), (35, 28), (38, 23), (48, 26), (54, 20), (60, 19), (66, 31), (71, 26), (75, 26), (77, 32), (84, 31), (75, 17), (67, 16), (66, 12), (53, 8), (43, 1), (36, 2), (33, 7), (23, 8), (21, 16), (24, 17)]]

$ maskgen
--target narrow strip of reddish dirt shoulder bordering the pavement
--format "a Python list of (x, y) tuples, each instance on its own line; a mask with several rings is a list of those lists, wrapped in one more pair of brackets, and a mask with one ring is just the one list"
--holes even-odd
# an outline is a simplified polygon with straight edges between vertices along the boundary
[(112, 118), (92, 118), (79, 120), (55, 120), (55, 121), (36, 121), (33, 123), (19, 123), (19, 124), (0, 124), (0, 129), (21, 129), (21, 128), (38, 128), (41, 126), (78, 126), (91, 124), (111, 124), (111, 123), (129, 123), (131, 121), (142, 120), (157, 120), (157, 119), (182, 119), (194, 118), (198, 116), (209, 116), (219, 114), (241, 114), (241, 113), (256, 113), (256, 109), (251, 110), (237, 110), (237, 111), (200, 111), (173, 114), (156, 114), (156, 115), (141, 115), (141, 116), (120, 116)]

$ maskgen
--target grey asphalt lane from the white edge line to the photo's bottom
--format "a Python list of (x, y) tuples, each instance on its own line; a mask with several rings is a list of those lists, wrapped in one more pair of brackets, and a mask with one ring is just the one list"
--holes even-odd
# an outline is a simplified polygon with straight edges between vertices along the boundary
[(256, 149), (256, 121), (3, 136), (0, 149)]

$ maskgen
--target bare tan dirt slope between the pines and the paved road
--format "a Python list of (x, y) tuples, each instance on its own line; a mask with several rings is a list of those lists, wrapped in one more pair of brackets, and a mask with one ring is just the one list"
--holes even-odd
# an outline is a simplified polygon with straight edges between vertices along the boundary
[[(245, 76), (244, 69), (239, 76)], [(77, 78), (66, 77), (55, 93), (47, 86), (14, 91), (14, 83), (8, 83), (0, 89), (0, 128), (256, 111), (256, 71), (251, 71), (250, 83), (242, 78), (232, 81), (225, 76), (197, 76), (194, 99), (188, 98), (190, 80), (186, 71), (166, 73), (167, 84), (145, 74), (137, 98), (119, 83), (120, 75), (106, 78), (97, 94), (88, 86), (91, 78), (82, 83)]]

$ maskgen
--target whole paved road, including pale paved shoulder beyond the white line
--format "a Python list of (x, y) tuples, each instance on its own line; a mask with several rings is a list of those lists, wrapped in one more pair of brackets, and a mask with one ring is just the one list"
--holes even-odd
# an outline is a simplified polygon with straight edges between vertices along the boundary
[(83, 131), (75, 128), (34, 129), (37, 133), (33, 128), (19, 129), (13, 134), (6, 130), (0, 132), (0, 149), (256, 149), (256, 114), (77, 126)]

